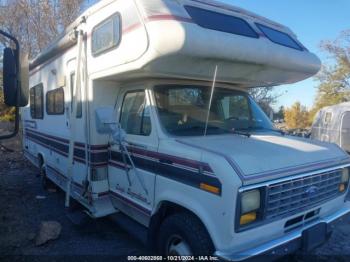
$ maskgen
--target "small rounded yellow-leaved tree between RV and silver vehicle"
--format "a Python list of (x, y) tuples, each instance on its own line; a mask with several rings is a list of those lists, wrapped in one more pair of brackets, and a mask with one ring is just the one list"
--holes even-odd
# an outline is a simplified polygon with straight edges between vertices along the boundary
[(296, 102), (290, 108), (285, 109), (284, 120), (288, 129), (305, 129), (309, 126), (309, 113), (305, 106)]

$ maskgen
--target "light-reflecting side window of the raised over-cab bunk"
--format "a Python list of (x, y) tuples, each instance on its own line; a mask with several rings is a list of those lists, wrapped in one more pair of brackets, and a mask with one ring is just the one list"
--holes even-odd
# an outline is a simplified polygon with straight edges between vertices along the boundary
[(120, 42), (120, 16), (115, 14), (92, 30), (92, 54), (99, 55), (117, 47)]

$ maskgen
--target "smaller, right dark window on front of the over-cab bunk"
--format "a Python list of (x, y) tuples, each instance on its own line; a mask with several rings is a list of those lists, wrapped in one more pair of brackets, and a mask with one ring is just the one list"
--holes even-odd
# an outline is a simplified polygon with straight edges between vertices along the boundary
[(256, 24), (257, 27), (266, 35), (268, 39), (270, 39), (272, 42), (283, 45), (286, 47), (294, 48), (297, 50), (302, 51), (303, 48), (288, 34), (277, 31), (271, 27), (261, 25), (261, 24)]

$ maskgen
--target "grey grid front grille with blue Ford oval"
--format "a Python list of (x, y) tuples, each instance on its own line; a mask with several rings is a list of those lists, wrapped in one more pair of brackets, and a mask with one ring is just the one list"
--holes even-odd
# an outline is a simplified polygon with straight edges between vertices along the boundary
[(337, 170), (268, 186), (266, 219), (291, 216), (341, 195), (341, 174)]

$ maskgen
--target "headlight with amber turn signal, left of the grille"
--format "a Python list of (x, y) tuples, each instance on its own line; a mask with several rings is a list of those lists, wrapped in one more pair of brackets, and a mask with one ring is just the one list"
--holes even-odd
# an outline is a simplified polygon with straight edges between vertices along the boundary
[(252, 223), (258, 218), (258, 211), (261, 205), (260, 190), (255, 189), (241, 194), (240, 225)]

